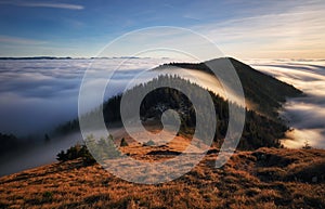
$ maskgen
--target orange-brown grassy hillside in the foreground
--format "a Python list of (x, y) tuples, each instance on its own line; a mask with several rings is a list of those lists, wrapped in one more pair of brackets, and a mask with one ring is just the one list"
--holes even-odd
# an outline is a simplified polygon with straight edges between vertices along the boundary
[[(159, 158), (150, 146), (134, 146), (123, 151)], [(325, 151), (237, 152), (221, 169), (216, 158), (209, 154), (187, 174), (158, 185), (126, 182), (81, 159), (43, 166), (0, 178), (0, 208), (325, 207)]]

